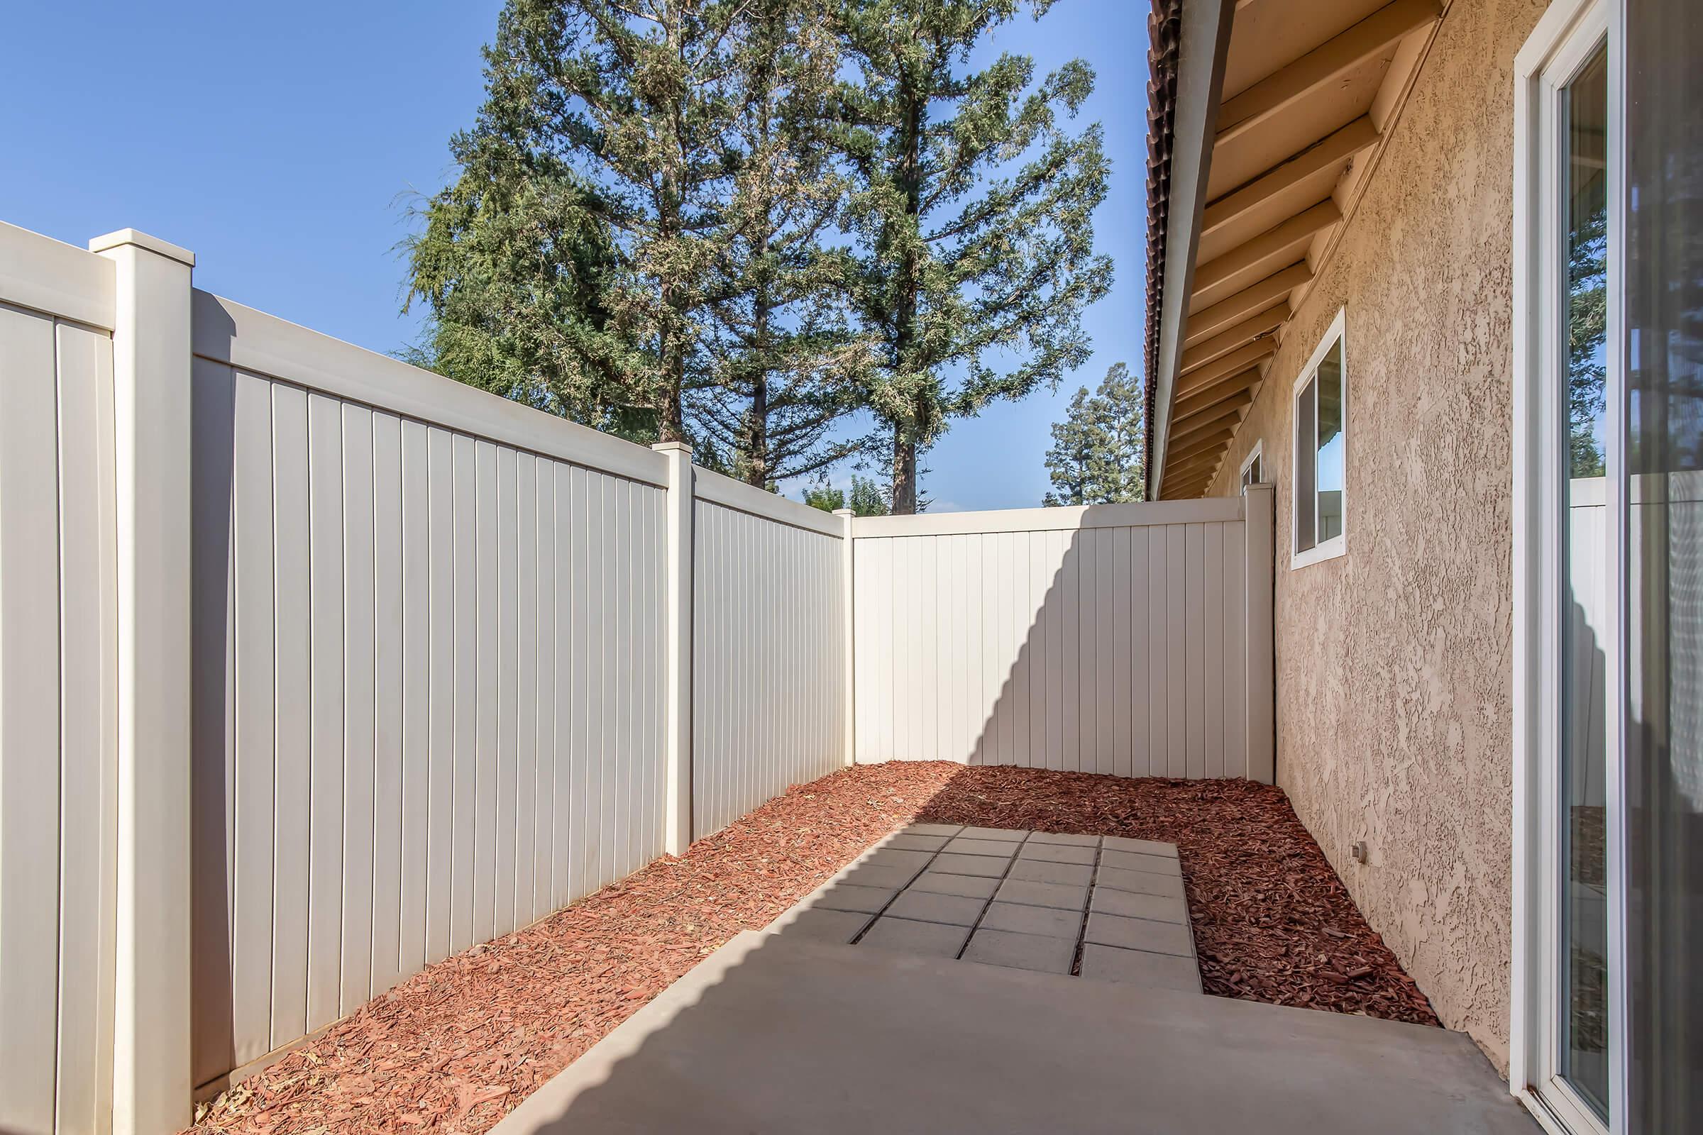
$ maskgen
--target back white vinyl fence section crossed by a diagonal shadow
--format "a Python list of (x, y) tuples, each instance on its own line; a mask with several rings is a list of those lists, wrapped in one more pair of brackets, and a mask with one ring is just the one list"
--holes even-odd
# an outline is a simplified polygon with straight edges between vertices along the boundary
[(858, 521), (858, 761), (1270, 781), (1269, 507)]

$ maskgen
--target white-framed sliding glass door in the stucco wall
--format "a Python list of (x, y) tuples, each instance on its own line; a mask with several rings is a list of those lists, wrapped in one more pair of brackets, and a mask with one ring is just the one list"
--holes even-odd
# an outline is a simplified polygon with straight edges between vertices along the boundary
[(1514, 1087), (1703, 1132), (1703, 3), (1517, 61)]

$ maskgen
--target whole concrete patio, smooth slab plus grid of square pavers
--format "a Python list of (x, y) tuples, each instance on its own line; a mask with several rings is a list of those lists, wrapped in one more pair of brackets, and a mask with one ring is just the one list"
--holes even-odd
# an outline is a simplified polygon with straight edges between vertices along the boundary
[(913, 824), (496, 1130), (1536, 1128), (1461, 1033), (1204, 995), (1175, 844)]

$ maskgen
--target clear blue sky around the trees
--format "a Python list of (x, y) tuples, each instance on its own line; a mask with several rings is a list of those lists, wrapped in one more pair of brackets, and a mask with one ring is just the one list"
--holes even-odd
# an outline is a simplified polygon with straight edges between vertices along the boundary
[[(373, 351), (419, 332), (402, 306), (407, 201), (450, 174), (501, 0), (15, 5), (0, 41), (0, 221), (83, 245), (140, 228), (196, 252), (196, 284)], [(279, 19), (279, 14), (286, 14)], [(1144, 5), (1059, 0), (984, 49), (1098, 83), (1110, 196), (1097, 243), (1117, 282), (1087, 317), (1095, 356), (1058, 395), (960, 420), (928, 454), (937, 510), (1034, 505), (1047, 425), (1107, 366), (1139, 369), (1146, 204)], [(834, 478), (845, 482), (841, 475)], [(797, 495), (792, 488), (788, 495)]]

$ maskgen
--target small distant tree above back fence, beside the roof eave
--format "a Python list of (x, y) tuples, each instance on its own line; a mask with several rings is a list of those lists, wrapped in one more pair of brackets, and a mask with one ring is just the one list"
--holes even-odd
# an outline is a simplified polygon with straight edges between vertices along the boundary
[(1100, 388), (1081, 386), (1069, 400), (1063, 422), (1052, 425), (1042, 504), (1121, 504), (1143, 500), (1141, 385), (1122, 362), (1112, 364)]

